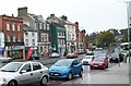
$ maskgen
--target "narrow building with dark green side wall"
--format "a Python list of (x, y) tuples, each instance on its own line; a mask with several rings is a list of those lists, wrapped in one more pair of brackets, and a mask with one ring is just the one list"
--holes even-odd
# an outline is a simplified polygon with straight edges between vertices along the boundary
[(50, 40), (52, 51), (58, 51), (63, 54), (67, 51), (67, 35), (64, 23), (61, 22), (55, 14), (50, 14), (47, 17), (47, 22), (50, 23)]

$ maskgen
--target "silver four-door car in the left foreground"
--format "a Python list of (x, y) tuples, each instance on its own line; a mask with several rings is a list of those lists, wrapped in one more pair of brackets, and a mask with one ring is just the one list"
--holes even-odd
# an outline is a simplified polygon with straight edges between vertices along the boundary
[(48, 67), (39, 62), (10, 62), (0, 69), (0, 86), (46, 85)]

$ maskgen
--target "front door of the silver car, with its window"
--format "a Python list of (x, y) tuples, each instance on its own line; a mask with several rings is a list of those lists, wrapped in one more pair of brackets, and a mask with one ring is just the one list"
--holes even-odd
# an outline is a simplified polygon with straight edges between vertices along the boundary
[(25, 64), (17, 76), (20, 84), (31, 84), (33, 82), (33, 71), (31, 63)]

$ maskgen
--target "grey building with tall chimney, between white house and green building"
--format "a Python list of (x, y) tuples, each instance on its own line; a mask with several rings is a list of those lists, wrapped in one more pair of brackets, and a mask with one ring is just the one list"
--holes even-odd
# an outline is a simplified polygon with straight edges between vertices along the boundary
[(31, 29), (37, 30), (37, 38), (35, 39), (37, 54), (49, 52), (50, 49), (50, 36), (49, 36), (49, 23), (43, 20), (41, 15), (27, 13), (27, 8), (17, 9), (19, 16), (23, 19), (23, 23)]

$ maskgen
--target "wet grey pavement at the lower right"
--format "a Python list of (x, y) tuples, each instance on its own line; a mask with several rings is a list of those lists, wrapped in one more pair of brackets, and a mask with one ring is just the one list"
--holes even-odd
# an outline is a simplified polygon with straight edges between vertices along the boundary
[(71, 81), (64, 84), (88, 84), (91, 86), (92, 84), (109, 84), (111, 86), (128, 86), (130, 84), (129, 63), (121, 62), (120, 64), (106, 69), (105, 71), (96, 74), (84, 74), (84, 77), (78, 78), (78, 81)]

